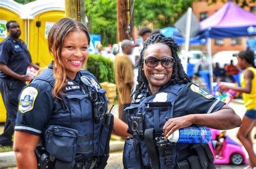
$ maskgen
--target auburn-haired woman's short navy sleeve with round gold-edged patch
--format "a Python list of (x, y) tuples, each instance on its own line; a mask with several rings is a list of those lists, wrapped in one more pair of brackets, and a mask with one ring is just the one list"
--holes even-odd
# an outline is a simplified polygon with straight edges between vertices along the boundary
[(26, 131), (41, 136), (53, 109), (52, 88), (49, 83), (36, 81), (19, 95), (15, 131)]

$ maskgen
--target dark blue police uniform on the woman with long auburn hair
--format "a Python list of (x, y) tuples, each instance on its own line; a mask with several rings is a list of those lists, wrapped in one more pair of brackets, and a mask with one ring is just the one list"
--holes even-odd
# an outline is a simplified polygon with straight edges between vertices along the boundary
[[(82, 82), (84, 77), (91, 86)], [(54, 83), (51, 64), (23, 89), (15, 130), (41, 136), (42, 146), (60, 161), (80, 161), (79, 166), (85, 168), (97, 166), (100, 156), (107, 155), (111, 134), (105, 121), (105, 90), (88, 71), (79, 71), (74, 80), (68, 78), (62, 100), (52, 95)], [(91, 98), (90, 90), (98, 98)]]

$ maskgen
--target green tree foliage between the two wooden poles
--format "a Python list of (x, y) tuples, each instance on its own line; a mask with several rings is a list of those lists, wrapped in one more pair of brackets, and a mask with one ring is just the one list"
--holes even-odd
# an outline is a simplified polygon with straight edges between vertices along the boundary
[(91, 34), (100, 34), (102, 44), (117, 43), (117, 6), (113, 0), (86, 0), (86, 16), (91, 18)]

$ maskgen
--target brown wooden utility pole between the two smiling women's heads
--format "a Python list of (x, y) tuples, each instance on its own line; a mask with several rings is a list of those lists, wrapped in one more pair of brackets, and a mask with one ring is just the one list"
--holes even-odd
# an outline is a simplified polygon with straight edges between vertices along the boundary
[(133, 39), (133, 0), (117, 0), (118, 41)]

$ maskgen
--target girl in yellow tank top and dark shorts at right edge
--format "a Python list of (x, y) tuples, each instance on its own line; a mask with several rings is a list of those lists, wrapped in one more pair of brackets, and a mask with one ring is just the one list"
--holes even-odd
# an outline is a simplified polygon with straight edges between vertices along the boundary
[(247, 168), (256, 167), (256, 155), (253, 151), (251, 132), (256, 122), (256, 69), (254, 65), (254, 53), (250, 50), (241, 51), (238, 56), (238, 67), (244, 72), (241, 74), (241, 87), (220, 86), (221, 90), (232, 89), (242, 93), (242, 99), (246, 112), (242, 117), (242, 126), (239, 128), (237, 137), (248, 152), (250, 165)]

